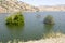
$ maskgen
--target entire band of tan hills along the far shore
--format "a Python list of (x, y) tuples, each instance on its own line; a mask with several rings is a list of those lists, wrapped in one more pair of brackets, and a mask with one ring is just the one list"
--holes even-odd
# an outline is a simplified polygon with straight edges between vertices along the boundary
[(42, 12), (42, 11), (65, 11), (65, 4), (34, 6), (17, 0), (0, 0), (0, 13), (10, 12)]

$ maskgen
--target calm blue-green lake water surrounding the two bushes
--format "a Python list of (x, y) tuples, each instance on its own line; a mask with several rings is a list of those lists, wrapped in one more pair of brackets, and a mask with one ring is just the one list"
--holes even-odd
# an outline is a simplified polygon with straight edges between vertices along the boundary
[[(25, 25), (17, 29), (8, 28), (5, 17), (9, 13), (0, 14), (0, 42), (8, 41), (29, 41), (39, 40), (53, 32), (65, 33), (65, 12), (35, 12), (24, 13)], [(43, 19), (47, 15), (52, 15), (55, 20), (54, 26), (46, 26)]]

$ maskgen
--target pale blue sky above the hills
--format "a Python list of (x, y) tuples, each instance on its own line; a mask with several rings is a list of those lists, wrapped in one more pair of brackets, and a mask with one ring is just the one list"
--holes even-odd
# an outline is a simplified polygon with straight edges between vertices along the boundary
[(65, 0), (18, 0), (18, 1), (23, 1), (35, 6), (65, 4)]

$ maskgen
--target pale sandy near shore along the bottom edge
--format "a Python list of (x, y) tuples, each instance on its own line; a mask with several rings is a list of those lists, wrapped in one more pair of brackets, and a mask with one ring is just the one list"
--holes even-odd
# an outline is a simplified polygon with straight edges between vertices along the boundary
[[(12, 41), (9, 41), (6, 43), (11, 43)], [(2, 42), (0, 42), (2, 43)], [(17, 43), (17, 40), (14, 40), (13, 43)], [(23, 42), (23, 41), (18, 41), (18, 43), (65, 43), (65, 34), (62, 33), (56, 33), (55, 38), (47, 38), (47, 39), (40, 39), (40, 40), (35, 40), (35, 41), (27, 41), (27, 42)]]

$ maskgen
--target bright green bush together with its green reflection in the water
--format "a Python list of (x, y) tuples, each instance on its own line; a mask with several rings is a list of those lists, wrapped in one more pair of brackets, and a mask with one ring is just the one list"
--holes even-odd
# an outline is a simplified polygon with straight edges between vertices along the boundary
[(22, 31), (24, 28), (24, 16), (21, 13), (9, 16), (5, 22), (8, 29), (12, 32), (18, 32), (20, 30)]

